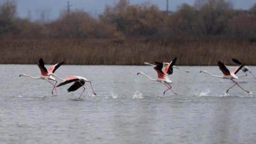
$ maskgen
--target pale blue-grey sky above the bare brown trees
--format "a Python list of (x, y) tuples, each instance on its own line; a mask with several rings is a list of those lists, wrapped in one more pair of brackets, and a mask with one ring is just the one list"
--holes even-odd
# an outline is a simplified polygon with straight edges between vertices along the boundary
[[(0, 0), (4, 1), (4, 0)], [(67, 9), (67, 1), (69, 1), (70, 9), (83, 9), (89, 12), (93, 17), (104, 12), (105, 5), (114, 5), (119, 0), (16, 0), (18, 17), (29, 17), (31, 20), (42, 19), (42, 11), (44, 19), (54, 20), (60, 16), (60, 12)], [(130, 0), (131, 4), (142, 4), (149, 1), (156, 4), (161, 10), (166, 10), (166, 0)], [(233, 3), (235, 9), (249, 9), (256, 0), (229, 0)], [(182, 3), (194, 5), (195, 0), (169, 0), (169, 10), (176, 11), (177, 7)]]

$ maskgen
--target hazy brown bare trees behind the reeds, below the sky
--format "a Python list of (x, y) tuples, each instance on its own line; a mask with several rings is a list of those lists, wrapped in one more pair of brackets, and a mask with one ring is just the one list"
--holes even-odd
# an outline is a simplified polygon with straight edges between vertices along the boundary
[(98, 18), (76, 9), (48, 23), (17, 17), (13, 0), (0, 5), (0, 38), (112, 38), (146, 40), (242, 39), (256, 41), (256, 4), (235, 10), (228, 0), (196, 0), (175, 12), (119, 0)]

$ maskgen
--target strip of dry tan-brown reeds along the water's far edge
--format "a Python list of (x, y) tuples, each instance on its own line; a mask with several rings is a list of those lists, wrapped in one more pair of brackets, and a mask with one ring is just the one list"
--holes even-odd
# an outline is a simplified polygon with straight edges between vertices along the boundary
[(145, 61), (176, 65), (217, 65), (217, 60), (233, 65), (231, 58), (256, 65), (256, 43), (218, 42), (143, 42), (105, 39), (1, 40), (1, 64), (46, 64), (65, 61), (70, 65), (143, 65)]

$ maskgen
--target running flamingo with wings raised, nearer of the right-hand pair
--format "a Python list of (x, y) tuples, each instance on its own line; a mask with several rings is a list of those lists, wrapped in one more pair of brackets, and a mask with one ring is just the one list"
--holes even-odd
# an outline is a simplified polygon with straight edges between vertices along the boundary
[[(241, 64), (239, 67), (233, 69), (231, 72), (229, 72), (228, 68), (226, 68), (226, 66), (225, 66), (221, 61), (218, 61), (218, 67), (219, 67), (219, 69), (222, 71), (223, 76), (215, 76), (215, 75), (213, 75), (213, 74), (211, 74), (211, 73), (209, 73), (209, 72), (207, 72), (207, 71), (205, 71), (205, 70), (200, 71), (200, 73), (202, 72), (202, 73), (205, 73), (205, 74), (209, 74), (209, 75), (211, 75), (211, 76), (214, 76), (214, 77), (223, 78), (223, 79), (230, 79), (231, 81), (233, 81), (233, 82), (235, 83), (235, 85), (239, 86), (242, 90), (246, 91), (246, 90), (243, 89), (240, 85), (238, 85), (236, 81), (233, 80), (233, 79), (238, 79), (238, 77), (236, 76), (236, 74), (237, 74), (237, 72), (238, 72), (241, 68), (244, 67), (244, 64)], [(235, 85), (233, 85), (233, 86), (235, 86)], [(228, 88), (228, 90), (231, 89), (233, 86), (231, 86), (230, 88)], [(228, 90), (227, 90), (226, 93), (228, 93)], [(246, 92), (247, 92), (247, 93), (250, 93), (250, 92), (248, 92), (248, 91), (246, 91)]]

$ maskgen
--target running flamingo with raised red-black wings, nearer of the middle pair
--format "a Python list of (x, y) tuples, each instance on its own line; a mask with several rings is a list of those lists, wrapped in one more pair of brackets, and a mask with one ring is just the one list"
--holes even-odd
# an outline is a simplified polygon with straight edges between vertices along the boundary
[[(142, 73), (142, 72), (138, 72), (137, 75), (144, 75), (146, 77), (148, 77), (150, 80), (152, 81), (156, 81), (156, 82), (161, 82), (164, 85), (166, 85), (168, 87), (167, 90), (171, 90), (171, 80), (169, 79), (169, 77), (167, 75), (172, 74), (172, 66), (175, 64), (175, 61), (177, 60), (177, 58), (175, 57), (164, 69), (164, 72), (162, 71), (163, 68), (163, 63), (161, 62), (155, 62), (157, 65), (154, 67), (154, 69), (157, 72), (157, 79), (152, 79), (150, 76), (147, 76), (146, 74)], [(163, 92), (163, 94), (165, 94), (165, 92), (167, 91), (165, 90)], [(175, 93), (174, 91), (171, 90), (172, 93), (174, 93), (175, 95), (177, 95), (177, 93)]]

